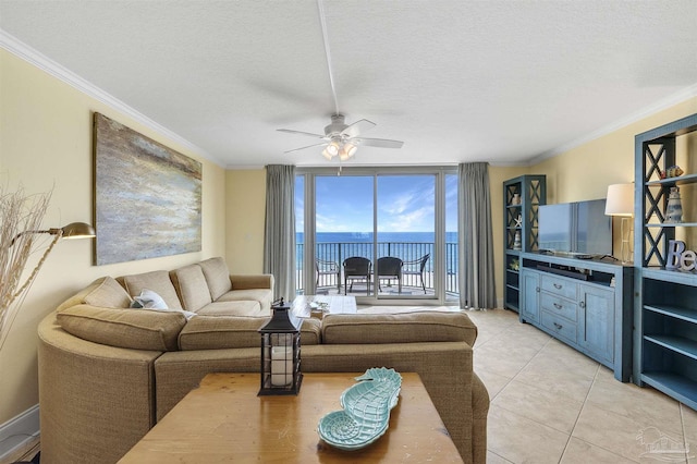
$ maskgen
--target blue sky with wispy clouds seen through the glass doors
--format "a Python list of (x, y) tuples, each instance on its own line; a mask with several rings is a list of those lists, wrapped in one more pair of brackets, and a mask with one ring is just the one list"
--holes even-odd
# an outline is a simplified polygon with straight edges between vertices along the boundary
[[(303, 178), (295, 183), (296, 230), (303, 228)], [(374, 178), (316, 176), (317, 232), (372, 232)], [(436, 218), (436, 176), (379, 175), (377, 178), (379, 232), (432, 232)], [(457, 230), (457, 176), (447, 175), (445, 229)]]

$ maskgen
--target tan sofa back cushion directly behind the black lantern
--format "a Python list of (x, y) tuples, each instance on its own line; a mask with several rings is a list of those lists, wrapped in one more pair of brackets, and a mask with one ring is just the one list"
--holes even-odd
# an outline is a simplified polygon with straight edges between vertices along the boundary
[[(196, 316), (179, 334), (181, 350), (222, 350), (259, 347), (259, 329), (268, 317)], [(301, 327), (301, 344), (320, 343), (319, 319), (305, 319)]]

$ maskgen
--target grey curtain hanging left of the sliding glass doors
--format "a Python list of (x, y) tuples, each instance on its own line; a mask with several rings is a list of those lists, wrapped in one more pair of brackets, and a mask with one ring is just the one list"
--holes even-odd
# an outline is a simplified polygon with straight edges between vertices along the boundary
[(295, 298), (295, 167), (266, 167), (264, 272), (273, 274), (273, 298)]

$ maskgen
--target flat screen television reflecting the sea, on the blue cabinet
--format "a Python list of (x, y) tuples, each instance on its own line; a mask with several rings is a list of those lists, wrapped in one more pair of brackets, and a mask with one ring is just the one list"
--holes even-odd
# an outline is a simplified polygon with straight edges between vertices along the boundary
[(606, 216), (604, 198), (542, 205), (538, 225), (540, 252), (612, 255), (612, 217)]

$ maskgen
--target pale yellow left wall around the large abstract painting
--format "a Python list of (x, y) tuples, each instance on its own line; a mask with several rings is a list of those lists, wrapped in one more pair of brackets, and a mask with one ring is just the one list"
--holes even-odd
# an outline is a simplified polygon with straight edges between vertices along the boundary
[(38, 403), (36, 327), (60, 302), (100, 276), (172, 269), (225, 255), (225, 172), (3, 49), (0, 69), (0, 182), (10, 191), (22, 184), (27, 193), (52, 187), (47, 228), (91, 222), (94, 111), (198, 159), (204, 168), (201, 252), (97, 267), (90, 240), (59, 242), (0, 351), (2, 425)]

